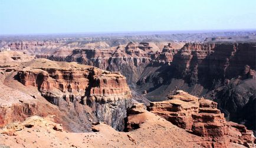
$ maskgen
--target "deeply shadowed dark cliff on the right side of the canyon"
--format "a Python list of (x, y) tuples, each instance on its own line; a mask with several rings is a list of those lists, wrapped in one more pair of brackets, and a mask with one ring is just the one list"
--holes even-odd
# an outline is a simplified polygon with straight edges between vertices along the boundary
[[(189, 48), (192, 48), (192, 51), (197, 50), (195, 46)], [(211, 51), (208, 51), (210, 53), (205, 55), (205, 58), (202, 53), (200, 53), (201, 57), (198, 57), (193, 55), (192, 52), (192, 60), (189, 61), (191, 64), (188, 69), (183, 69), (182, 79), (191, 86), (200, 84), (204, 89), (212, 90), (212, 92), (206, 93), (206, 97), (218, 102), (219, 109), (229, 119), (252, 125), (255, 123), (255, 116), (248, 119), (244, 115), (251, 113), (255, 115), (255, 106), (250, 107), (250, 105), (255, 100), (254, 94), (256, 92), (256, 44), (211, 44), (205, 49), (211, 49)], [(173, 63), (178, 65), (176, 63), (181, 61), (177, 60)], [(176, 69), (179, 68), (176, 67)], [(204, 93), (201, 92), (201, 94)], [(254, 126), (250, 127), (255, 128)]]

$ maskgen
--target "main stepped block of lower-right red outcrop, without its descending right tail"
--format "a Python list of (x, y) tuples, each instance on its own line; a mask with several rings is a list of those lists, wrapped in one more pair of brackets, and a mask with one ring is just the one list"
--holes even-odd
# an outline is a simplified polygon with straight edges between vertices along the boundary
[(149, 110), (162, 115), (174, 125), (192, 130), (199, 136), (218, 137), (227, 133), (224, 115), (217, 109), (217, 103), (183, 91), (169, 96), (169, 99), (150, 103)]

